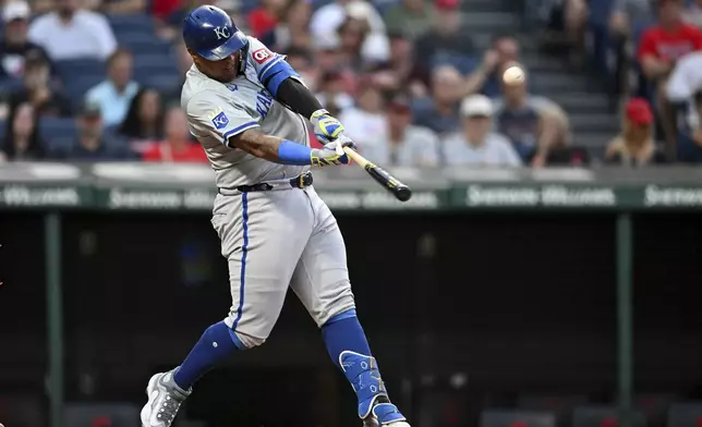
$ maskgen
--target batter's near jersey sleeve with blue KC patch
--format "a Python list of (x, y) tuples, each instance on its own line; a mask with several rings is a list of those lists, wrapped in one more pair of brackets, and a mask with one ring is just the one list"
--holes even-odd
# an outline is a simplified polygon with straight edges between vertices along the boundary
[(214, 136), (226, 146), (229, 146), (230, 137), (259, 125), (259, 118), (253, 117), (243, 107), (215, 91), (204, 91), (194, 96), (187, 102), (186, 113), (187, 121), (197, 132), (195, 136)]

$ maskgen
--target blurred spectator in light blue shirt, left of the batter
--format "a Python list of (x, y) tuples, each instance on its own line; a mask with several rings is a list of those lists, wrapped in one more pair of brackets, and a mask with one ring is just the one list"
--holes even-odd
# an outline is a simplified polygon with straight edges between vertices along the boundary
[(88, 90), (86, 98), (100, 106), (102, 121), (111, 127), (126, 117), (138, 84), (132, 81), (132, 53), (119, 48), (107, 60), (107, 78)]

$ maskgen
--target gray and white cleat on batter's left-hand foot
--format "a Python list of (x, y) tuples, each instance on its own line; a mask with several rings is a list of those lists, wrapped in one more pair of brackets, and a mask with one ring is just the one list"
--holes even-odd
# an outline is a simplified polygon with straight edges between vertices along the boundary
[(142, 408), (142, 427), (170, 427), (180, 405), (193, 392), (178, 387), (173, 381), (174, 371), (156, 374), (148, 380), (148, 402)]

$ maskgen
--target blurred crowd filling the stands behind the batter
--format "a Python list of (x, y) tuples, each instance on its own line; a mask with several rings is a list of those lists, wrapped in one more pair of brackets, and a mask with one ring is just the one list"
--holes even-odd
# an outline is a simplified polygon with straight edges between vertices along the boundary
[[(702, 0), (515, 0), (525, 25), (486, 50), (463, 1), (213, 3), (287, 54), (378, 163), (702, 161)], [(5, 0), (0, 159), (206, 162), (180, 107), (192, 65), (180, 23), (199, 3)], [(534, 16), (567, 45), (564, 69), (592, 69), (607, 85), (621, 126), (602, 154), (578, 145), (564, 108), (530, 91), (529, 70), (523, 84), (501, 80), (521, 63)]]

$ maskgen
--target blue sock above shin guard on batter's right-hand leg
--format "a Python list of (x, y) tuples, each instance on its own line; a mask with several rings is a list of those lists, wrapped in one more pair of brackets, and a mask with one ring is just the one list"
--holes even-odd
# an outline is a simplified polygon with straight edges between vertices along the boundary
[(359, 318), (355, 317), (355, 310), (350, 309), (330, 318), (322, 327), (322, 337), (325, 344), (327, 344), (327, 352), (334, 363), (341, 369), (339, 365), (339, 355), (343, 351), (352, 351), (355, 353), (371, 355), (371, 347), (365, 338), (365, 332), (359, 324)]

